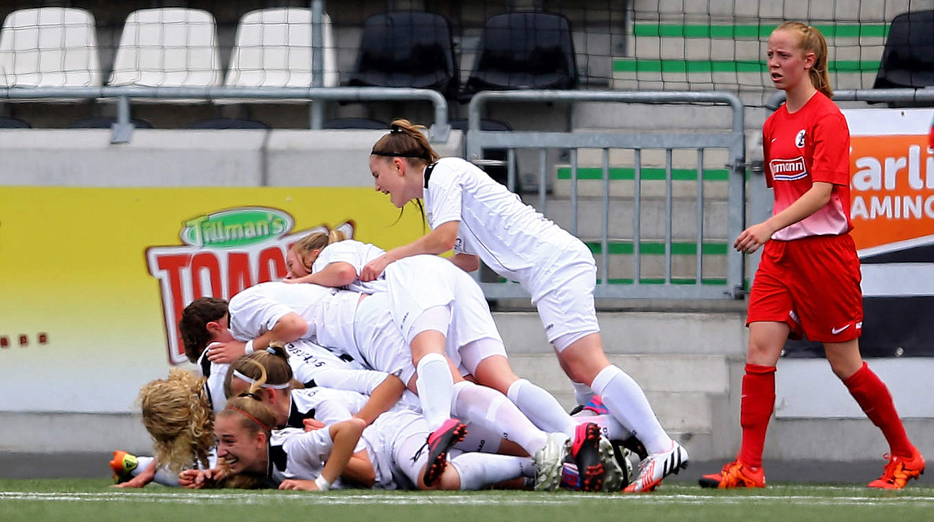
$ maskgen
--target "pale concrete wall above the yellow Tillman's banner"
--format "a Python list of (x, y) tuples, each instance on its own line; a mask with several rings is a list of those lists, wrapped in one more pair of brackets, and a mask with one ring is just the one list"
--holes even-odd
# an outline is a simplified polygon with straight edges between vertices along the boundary
[[(0, 186), (372, 186), (383, 131), (136, 130), (113, 145), (95, 129), (0, 130)], [(432, 144), (459, 155), (462, 133)]]

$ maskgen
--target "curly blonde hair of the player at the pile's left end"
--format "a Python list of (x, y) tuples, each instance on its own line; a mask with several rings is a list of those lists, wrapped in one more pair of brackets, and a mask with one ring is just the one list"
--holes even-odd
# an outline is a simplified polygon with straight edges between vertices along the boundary
[(207, 453), (214, 446), (214, 412), (204, 377), (173, 368), (167, 379), (140, 388), (138, 402), (156, 461), (172, 473), (199, 464), (207, 467)]

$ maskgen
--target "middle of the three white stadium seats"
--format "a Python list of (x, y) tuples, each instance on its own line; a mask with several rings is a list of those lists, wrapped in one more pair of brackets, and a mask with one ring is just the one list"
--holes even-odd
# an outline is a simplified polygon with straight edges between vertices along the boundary
[(183, 7), (140, 9), (123, 24), (111, 86), (210, 87), (221, 81), (214, 17)]

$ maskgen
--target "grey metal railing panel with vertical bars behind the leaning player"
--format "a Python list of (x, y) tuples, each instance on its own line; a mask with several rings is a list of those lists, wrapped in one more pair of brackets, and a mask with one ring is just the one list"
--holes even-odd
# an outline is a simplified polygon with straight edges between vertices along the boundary
[[(724, 133), (633, 133), (623, 132), (567, 132), (541, 133), (525, 131), (483, 131), (480, 121), (483, 106), (490, 102), (618, 102), (630, 104), (725, 104), (732, 109), (732, 122), (729, 132)], [(539, 151), (538, 210), (546, 214), (546, 180), (548, 177), (545, 152), (549, 148), (571, 149), (571, 230), (577, 235), (578, 215), (578, 148), (602, 149), (602, 232), (600, 237), (601, 281), (595, 290), (598, 298), (686, 298), (713, 299), (739, 298), (743, 296), (743, 254), (729, 249), (727, 255), (727, 277), (724, 284), (705, 284), (703, 279), (702, 249), (704, 240), (704, 192), (703, 192), (703, 149), (729, 149), (729, 162), (725, 165), (729, 171), (728, 183), (728, 235), (736, 237), (743, 231), (745, 223), (745, 139), (743, 127), (743, 103), (730, 92), (589, 92), (589, 91), (516, 91), (516, 92), (478, 92), (469, 106), (469, 130), (467, 133), (467, 159), (479, 164), (489, 164), (483, 160), (483, 150), (506, 148), (506, 164), (509, 169), (510, 184), (515, 182), (515, 154), (517, 149), (537, 149)], [(634, 190), (632, 213), (632, 256), (633, 274), (631, 284), (611, 284), (609, 253), (609, 215), (610, 215), (610, 165), (611, 148), (629, 148), (634, 150)], [(665, 210), (668, 222), (665, 224), (664, 278), (660, 284), (644, 283), (641, 274), (641, 151), (644, 148), (661, 148), (666, 151), (665, 164)], [(675, 281), (672, 278), (672, 149), (692, 148), (698, 151), (697, 165), (697, 216), (695, 276), (693, 282)], [(656, 282), (658, 283), (658, 282)], [(481, 283), (489, 298), (513, 298), (527, 296), (523, 289), (510, 283)]]

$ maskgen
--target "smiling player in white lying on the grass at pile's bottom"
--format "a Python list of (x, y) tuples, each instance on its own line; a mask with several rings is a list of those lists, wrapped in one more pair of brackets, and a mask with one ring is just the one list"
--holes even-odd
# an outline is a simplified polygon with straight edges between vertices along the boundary
[[(262, 383), (253, 383), (250, 393), (260, 387)], [(524, 477), (535, 473), (527, 457), (463, 453), (427, 486), (428, 454), (422, 449), (428, 427), (422, 416), (407, 410), (387, 412), (366, 428), (359, 418), (311, 431), (273, 430), (275, 423), (276, 413), (263, 402), (231, 399), (215, 421), (220, 466), (186, 470), (179, 484), (210, 487), (239, 474), (250, 478), (252, 486), (280, 489), (479, 489), (503, 481), (521, 486)]]

